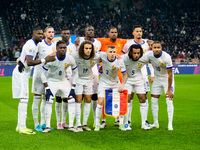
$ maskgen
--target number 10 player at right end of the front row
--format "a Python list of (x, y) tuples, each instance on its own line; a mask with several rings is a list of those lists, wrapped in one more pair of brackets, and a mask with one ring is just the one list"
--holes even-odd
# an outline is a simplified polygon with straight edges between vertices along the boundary
[(152, 49), (153, 51), (149, 51), (144, 55), (147, 58), (146, 61), (150, 61), (155, 70), (155, 79), (151, 88), (151, 109), (154, 118), (154, 123), (151, 127), (159, 128), (158, 99), (164, 89), (168, 112), (168, 130), (173, 130), (174, 77), (172, 72), (172, 60), (168, 53), (162, 51), (162, 45), (159, 41), (153, 43)]

